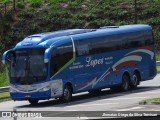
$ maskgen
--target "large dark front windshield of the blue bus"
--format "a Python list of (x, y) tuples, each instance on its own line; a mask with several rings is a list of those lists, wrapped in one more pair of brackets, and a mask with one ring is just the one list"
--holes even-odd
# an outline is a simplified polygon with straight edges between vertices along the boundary
[(10, 64), (11, 80), (22, 84), (44, 80), (47, 76), (44, 51), (42, 48), (16, 50)]

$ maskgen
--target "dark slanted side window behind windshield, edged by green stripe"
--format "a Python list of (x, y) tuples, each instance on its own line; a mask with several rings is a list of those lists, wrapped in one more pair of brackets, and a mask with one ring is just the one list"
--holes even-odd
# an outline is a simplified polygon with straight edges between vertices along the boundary
[(53, 76), (73, 58), (72, 43), (66, 43), (52, 50), (50, 74)]

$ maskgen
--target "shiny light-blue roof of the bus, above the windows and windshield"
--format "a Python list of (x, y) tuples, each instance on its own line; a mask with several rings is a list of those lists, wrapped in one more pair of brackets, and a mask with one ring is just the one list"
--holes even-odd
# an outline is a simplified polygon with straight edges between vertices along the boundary
[(15, 48), (35, 47), (42, 42), (44, 44), (51, 44), (52, 42), (59, 41), (59, 39), (62, 39), (63, 41), (63, 39), (66, 38), (66, 36), (72, 36), (75, 40), (80, 40), (89, 37), (123, 34), (136, 31), (146, 31), (151, 29), (152, 28), (149, 25), (145, 24), (104, 26), (99, 29), (68, 29), (31, 35), (19, 42)]

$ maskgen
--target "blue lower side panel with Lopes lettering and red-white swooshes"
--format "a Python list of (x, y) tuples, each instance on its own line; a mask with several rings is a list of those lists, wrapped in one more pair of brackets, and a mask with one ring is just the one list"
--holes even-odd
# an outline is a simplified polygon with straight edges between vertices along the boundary
[(140, 71), (142, 80), (151, 79), (155, 75), (151, 73), (154, 61), (151, 47), (80, 56), (57, 78), (62, 79), (64, 85), (70, 82), (75, 93), (103, 89), (120, 85), (125, 71), (131, 79), (134, 70)]

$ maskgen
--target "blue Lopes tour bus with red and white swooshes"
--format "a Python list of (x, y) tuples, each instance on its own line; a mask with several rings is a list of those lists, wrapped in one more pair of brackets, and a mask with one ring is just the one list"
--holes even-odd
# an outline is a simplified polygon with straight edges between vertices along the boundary
[(60, 98), (111, 88), (127, 91), (156, 74), (149, 25), (69, 29), (26, 37), (4, 52), (13, 100)]

